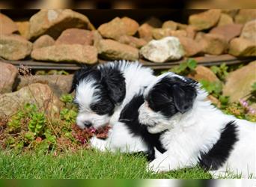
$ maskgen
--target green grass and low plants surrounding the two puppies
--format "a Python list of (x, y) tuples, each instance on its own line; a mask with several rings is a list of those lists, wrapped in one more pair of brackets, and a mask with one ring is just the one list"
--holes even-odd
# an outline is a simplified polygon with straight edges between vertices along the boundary
[[(194, 72), (193, 59), (183, 62), (170, 71), (187, 76)], [(200, 83), (219, 104), (213, 103), (226, 114), (256, 122), (255, 110), (250, 106), (256, 98), (256, 82), (252, 91), (237, 102), (222, 95), (225, 77), (237, 67), (226, 64), (210, 70), (220, 82), (201, 80)], [(142, 155), (100, 153), (92, 150), (89, 138), (97, 135), (106, 138), (109, 127), (96, 132), (76, 126), (77, 107), (73, 94), (61, 96), (64, 107), (58, 117), (48, 117), (42, 108), (25, 103), (10, 117), (0, 119), (0, 178), (180, 178), (209, 179), (210, 174), (201, 168), (186, 168), (165, 174), (145, 170), (147, 161)], [(228, 178), (239, 178), (230, 174)]]

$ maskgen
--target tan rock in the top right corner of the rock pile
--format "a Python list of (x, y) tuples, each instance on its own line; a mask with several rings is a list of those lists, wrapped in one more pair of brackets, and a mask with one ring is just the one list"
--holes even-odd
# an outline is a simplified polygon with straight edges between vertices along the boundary
[(235, 16), (235, 22), (244, 24), (246, 22), (252, 21), (256, 19), (256, 11), (255, 9), (241, 9), (237, 16)]

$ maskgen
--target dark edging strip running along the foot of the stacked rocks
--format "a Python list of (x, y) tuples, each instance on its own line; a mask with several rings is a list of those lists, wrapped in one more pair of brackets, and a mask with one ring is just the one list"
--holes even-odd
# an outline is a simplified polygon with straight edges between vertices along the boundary
[[(154, 70), (166, 70), (170, 69), (171, 67), (174, 67), (183, 61), (186, 61), (187, 58), (183, 58), (179, 61), (169, 61), (165, 63), (154, 63), (150, 62), (144, 59), (139, 59), (138, 61), (141, 62), (145, 67), (151, 67)], [(209, 55), (209, 56), (203, 56), (203, 57), (195, 57), (195, 59), (198, 64), (204, 65), (204, 66), (213, 66), (213, 65), (219, 65), (222, 63), (226, 64), (240, 64), (240, 63), (246, 63), (249, 61), (256, 60), (256, 57), (249, 57), (249, 58), (237, 58), (232, 55)], [(0, 61), (10, 63), (15, 65), (16, 67), (19, 67), (19, 65), (25, 65), (30, 67), (32, 70), (78, 70), (80, 67), (82, 67), (83, 64), (79, 63), (70, 63), (70, 62), (48, 62), (48, 61), (33, 61), (32, 59), (22, 60), (22, 61), (8, 61), (3, 58), (0, 58)], [(99, 59), (98, 63), (103, 64), (106, 60)]]

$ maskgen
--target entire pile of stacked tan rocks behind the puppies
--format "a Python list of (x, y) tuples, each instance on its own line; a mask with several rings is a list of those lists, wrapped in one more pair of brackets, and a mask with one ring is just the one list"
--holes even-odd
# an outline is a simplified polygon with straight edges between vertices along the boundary
[(256, 56), (255, 10), (206, 10), (188, 24), (167, 20), (155, 28), (116, 17), (95, 29), (73, 10), (40, 10), (27, 22), (0, 14), (0, 56), (7, 60), (95, 64), (105, 60), (146, 58), (162, 63), (192, 56)]

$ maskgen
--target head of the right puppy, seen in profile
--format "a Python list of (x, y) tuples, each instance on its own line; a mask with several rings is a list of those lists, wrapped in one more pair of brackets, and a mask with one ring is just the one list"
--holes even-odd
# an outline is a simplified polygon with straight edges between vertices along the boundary
[(174, 114), (183, 114), (192, 108), (197, 96), (196, 85), (194, 80), (174, 73), (159, 76), (144, 92), (145, 102), (138, 110), (140, 123), (153, 128), (154, 133), (169, 129)]

